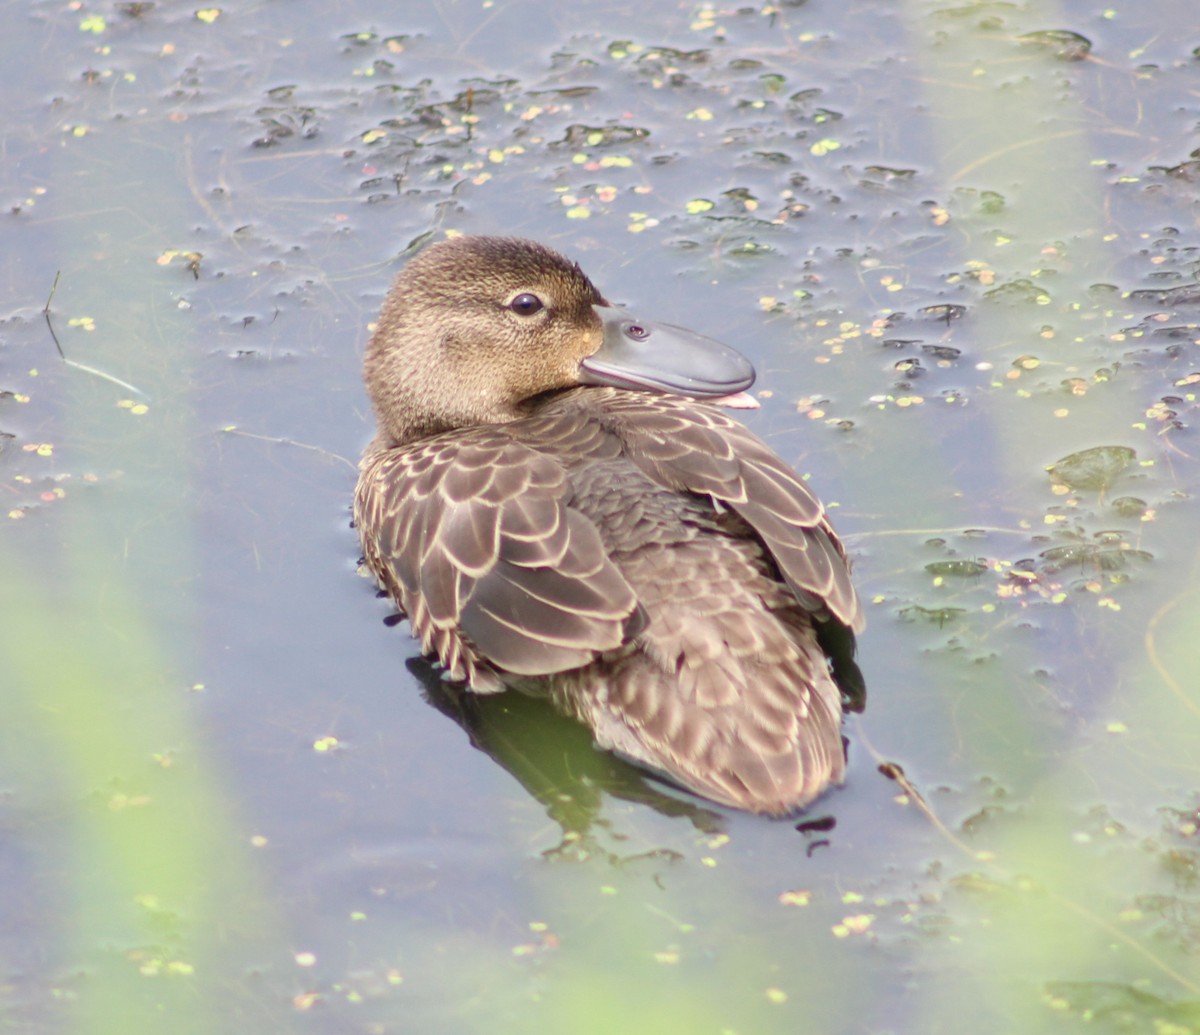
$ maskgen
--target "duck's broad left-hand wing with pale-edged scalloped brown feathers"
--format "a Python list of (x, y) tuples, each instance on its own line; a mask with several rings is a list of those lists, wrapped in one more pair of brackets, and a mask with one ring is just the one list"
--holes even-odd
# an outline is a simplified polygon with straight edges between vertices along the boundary
[(563, 467), (504, 429), (368, 450), (364, 556), (424, 648), (476, 690), (577, 668), (644, 622)]

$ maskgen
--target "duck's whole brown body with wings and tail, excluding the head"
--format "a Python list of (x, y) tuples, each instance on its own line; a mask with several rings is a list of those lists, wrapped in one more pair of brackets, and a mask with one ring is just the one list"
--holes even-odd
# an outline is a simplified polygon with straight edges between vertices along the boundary
[(368, 455), (356, 511), (454, 675), (544, 690), (602, 747), (739, 808), (786, 813), (841, 779), (816, 627), (856, 626), (857, 602), (820, 503), (756, 437), (582, 389), (439, 438)]

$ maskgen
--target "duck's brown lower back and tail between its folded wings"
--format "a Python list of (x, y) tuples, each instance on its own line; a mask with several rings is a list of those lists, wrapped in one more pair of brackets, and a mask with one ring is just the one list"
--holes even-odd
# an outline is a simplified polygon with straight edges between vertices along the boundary
[(624, 648), (552, 677), (559, 706), (602, 747), (740, 808), (788, 812), (840, 782), (840, 693), (814, 616), (752, 530), (628, 460), (572, 484), (571, 505), (596, 524), (647, 622)]

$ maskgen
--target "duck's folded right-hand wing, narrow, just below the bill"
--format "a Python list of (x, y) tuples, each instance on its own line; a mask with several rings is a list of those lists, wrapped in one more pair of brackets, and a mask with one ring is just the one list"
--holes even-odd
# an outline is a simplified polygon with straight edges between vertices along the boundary
[(752, 431), (714, 406), (667, 395), (611, 391), (604, 408), (629, 459), (655, 481), (734, 510), (803, 606), (863, 628), (846, 550), (821, 501)]

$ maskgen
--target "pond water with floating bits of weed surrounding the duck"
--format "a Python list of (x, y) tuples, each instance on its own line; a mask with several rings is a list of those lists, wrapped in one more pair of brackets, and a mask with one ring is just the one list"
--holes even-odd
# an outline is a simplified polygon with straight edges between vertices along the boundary
[[(1198, 54), (1190, 0), (10, 5), (2, 1027), (1200, 1031)], [(368, 324), (450, 232), (755, 361), (868, 610), (805, 815), (463, 699), (356, 578)]]

